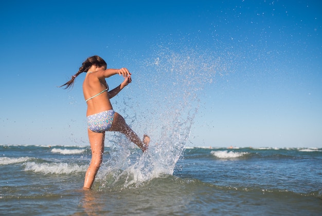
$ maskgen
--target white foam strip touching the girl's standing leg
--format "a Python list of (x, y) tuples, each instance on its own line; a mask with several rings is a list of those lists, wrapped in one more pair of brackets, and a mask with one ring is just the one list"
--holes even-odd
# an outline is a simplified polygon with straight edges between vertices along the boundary
[(41, 172), (44, 174), (69, 174), (74, 172), (84, 172), (87, 165), (79, 166), (77, 164), (67, 163), (35, 163), (26, 162), (24, 171)]

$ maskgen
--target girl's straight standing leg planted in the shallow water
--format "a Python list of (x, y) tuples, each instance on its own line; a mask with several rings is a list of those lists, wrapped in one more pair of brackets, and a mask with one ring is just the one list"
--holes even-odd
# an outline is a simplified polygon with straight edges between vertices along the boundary
[(102, 157), (104, 152), (104, 136), (105, 133), (95, 133), (88, 130), (88, 138), (90, 139), (92, 159), (85, 174), (84, 189), (91, 189), (95, 180), (96, 173), (102, 164)]

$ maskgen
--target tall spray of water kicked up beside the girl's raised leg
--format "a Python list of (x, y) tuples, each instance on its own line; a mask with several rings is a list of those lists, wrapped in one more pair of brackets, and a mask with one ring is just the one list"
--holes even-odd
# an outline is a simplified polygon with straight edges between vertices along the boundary
[(138, 134), (149, 134), (149, 151), (131, 150), (133, 144), (121, 134), (108, 136), (112, 151), (104, 166), (105, 186), (136, 187), (173, 174), (198, 112), (200, 92), (216, 74), (229, 70), (218, 54), (209, 51), (158, 47), (154, 53), (136, 63), (136, 92), (114, 105)]

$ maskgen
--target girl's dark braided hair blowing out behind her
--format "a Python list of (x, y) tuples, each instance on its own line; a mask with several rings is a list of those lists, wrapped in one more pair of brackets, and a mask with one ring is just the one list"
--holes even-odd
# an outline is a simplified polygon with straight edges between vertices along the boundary
[(70, 80), (67, 83), (65, 83), (64, 85), (61, 85), (59, 87), (66, 86), (64, 89), (67, 89), (70, 86), (73, 87), (75, 78), (79, 74), (81, 74), (82, 72), (87, 72), (87, 70), (90, 69), (93, 65), (95, 65), (96, 67), (103, 67), (104, 66), (105, 69), (106, 69), (106, 66), (107, 66), (106, 62), (103, 60), (103, 58), (101, 58), (98, 55), (88, 57), (85, 60), (85, 62), (83, 62), (82, 66), (79, 68), (79, 71), (75, 75), (71, 76)]

